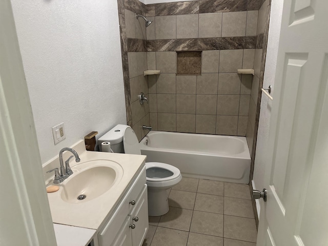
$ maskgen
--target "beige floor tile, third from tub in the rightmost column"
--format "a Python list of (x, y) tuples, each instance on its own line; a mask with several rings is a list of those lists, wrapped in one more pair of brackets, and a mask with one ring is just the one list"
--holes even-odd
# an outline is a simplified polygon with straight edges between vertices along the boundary
[(224, 237), (256, 242), (255, 219), (224, 215)]

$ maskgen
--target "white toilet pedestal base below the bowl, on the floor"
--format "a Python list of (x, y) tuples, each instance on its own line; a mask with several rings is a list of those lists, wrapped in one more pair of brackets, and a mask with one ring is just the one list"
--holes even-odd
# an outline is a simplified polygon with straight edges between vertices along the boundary
[(168, 189), (151, 189), (148, 187), (148, 215), (160, 216), (169, 212)]

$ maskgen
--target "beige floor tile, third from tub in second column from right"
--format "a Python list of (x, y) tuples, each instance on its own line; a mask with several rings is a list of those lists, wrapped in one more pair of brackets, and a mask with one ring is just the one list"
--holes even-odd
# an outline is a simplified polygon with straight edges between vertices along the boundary
[[(204, 223), (206, 221), (206, 223)], [(190, 232), (223, 236), (223, 215), (194, 211)]]

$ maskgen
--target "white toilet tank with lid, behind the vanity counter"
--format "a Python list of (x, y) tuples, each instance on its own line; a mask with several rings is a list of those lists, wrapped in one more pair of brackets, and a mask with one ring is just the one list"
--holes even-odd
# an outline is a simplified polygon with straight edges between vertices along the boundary
[(128, 127), (129, 126), (127, 125), (120, 125), (120, 124), (116, 125), (109, 132), (99, 137), (98, 138), (99, 150), (102, 151), (101, 150), (102, 142), (110, 142), (111, 149), (115, 153), (124, 153), (123, 136), (124, 136), (125, 129), (127, 129)]

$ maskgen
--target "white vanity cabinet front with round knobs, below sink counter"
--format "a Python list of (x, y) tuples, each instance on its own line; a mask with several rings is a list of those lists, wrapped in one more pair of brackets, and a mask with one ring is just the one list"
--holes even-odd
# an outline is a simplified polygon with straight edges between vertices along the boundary
[(140, 246), (148, 231), (146, 167), (132, 182), (105, 226), (98, 233), (99, 246)]

